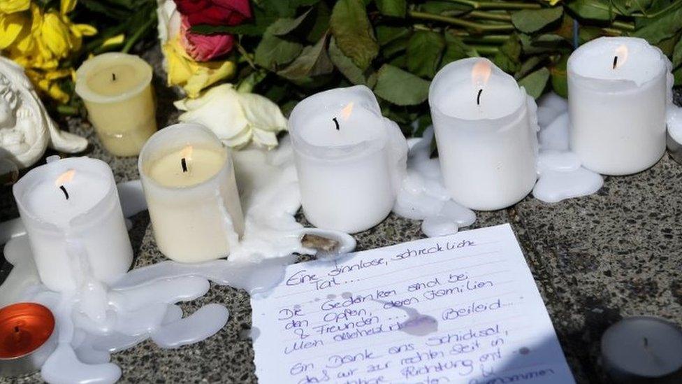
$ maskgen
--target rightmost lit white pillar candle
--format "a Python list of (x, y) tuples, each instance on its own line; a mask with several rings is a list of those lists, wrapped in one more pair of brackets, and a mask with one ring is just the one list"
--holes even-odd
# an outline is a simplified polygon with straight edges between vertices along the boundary
[(570, 145), (607, 175), (644, 171), (665, 152), (668, 59), (641, 38), (602, 37), (568, 59)]

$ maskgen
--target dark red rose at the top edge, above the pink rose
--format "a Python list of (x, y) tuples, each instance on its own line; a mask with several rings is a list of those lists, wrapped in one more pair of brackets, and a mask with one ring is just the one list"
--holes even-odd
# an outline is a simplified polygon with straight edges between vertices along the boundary
[(251, 17), (249, 0), (175, 0), (190, 25), (237, 25)]

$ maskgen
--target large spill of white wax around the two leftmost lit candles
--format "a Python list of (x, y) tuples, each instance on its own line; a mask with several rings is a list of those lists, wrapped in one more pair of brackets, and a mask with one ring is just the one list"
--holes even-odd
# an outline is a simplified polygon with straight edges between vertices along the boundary
[[(355, 247), (342, 232), (304, 228), (294, 215), (300, 207), (291, 145), (284, 140), (275, 151), (249, 149), (235, 153), (237, 183), (242, 192), (245, 234), (228, 259), (201, 264), (159, 262), (133, 269), (106, 286), (89, 277), (87, 257), (76, 247), (74, 267), (83, 276), (78, 290), (52, 292), (40, 283), (27, 236), (17, 222), (1, 229), (10, 239), (5, 257), (14, 267), (0, 286), (0, 305), (34, 301), (55, 314), (59, 343), (43, 365), (50, 383), (113, 383), (122, 371), (110, 354), (151, 339), (161, 348), (178, 348), (217, 333), (229, 314), (221, 304), (207, 304), (184, 316), (176, 304), (202, 297), (210, 282), (267, 294), (296, 261), (293, 253), (314, 254), (301, 243), (305, 234), (338, 242), (328, 255), (345, 255)], [(119, 185), (126, 217), (147, 208), (139, 181)], [(226, 225), (231, 222), (226, 218)], [(233, 232), (233, 231), (232, 231)], [(235, 238), (235, 234), (227, 234)], [(77, 244), (78, 241), (72, 241)], [(184, 317), (183, 317), (184, 316)]]

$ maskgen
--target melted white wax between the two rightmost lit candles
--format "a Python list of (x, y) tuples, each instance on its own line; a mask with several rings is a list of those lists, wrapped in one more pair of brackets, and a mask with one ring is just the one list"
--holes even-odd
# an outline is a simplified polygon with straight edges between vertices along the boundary
[(569, 150), (567, 101), (557, 94), (546, 94), (538, 101), (537, 122), (540, 150), (533, 196), (556, 203), (597, 192), (604, 185), (604, 178), (581, 166), (580, 159)]

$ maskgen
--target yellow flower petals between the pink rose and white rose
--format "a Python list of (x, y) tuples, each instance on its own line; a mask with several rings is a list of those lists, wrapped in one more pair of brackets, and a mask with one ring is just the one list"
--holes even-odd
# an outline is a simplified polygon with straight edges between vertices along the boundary
[(167, 41), (163, 50), (168, 61), (168, 85), (180, 85), (191, 98), (235, 72), (231, 61), (195, 62), (180, 45), (179, 36)]

